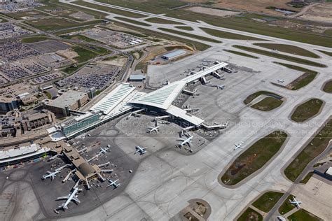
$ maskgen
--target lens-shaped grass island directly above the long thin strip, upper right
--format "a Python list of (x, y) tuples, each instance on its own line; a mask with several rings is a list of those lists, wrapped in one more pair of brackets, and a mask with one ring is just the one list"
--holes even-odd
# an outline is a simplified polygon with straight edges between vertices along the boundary
[(286, 52), (292, 55), (319, 58), (319, 56), (314, 54), (314, 52), (310, 52), (309, 50), (305, 50), (303, 48), (299, 48), (294, 45), (284, 45), (284, 44), (275, 44), (275, 43), (254, 43), (254, 45), (263, 48), (268, 48), (270, 50), (279, 50), (281, 52)]

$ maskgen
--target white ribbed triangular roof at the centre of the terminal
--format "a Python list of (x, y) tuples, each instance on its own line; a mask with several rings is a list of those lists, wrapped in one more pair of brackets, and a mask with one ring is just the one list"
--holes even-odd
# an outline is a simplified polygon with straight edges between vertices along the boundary
[(170, 85), (165, 85), (158, 90), (145, 94), (144, 96), (139, 97), (139, 99), (134, 99), (130, 103), (154, 106), (156, 108), (166, 110), (170, 107), (170, 105), (177, 98), (177, 96), (182, 92), (185, 86), (186, 81), (175, 81), (173, 83), (170, 83)]

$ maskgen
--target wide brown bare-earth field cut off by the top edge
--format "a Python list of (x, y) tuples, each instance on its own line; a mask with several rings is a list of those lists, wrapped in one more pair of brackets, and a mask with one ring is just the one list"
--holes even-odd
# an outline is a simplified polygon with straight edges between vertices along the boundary
[(286, 10), (299, 11), (298, 8), (293, 8), (287, 6), (286, 3), (289, 3), (289, 0), (221, 0), (219, 3), (214, 4), (213, 6), (220, 8), (228, 8), (234, 10), (244, 10), (257, 13), (267, 13), (270, 15), (284, 15), (284, 13), (277, 12), (267, 7), (275, 8), (284, 8)]

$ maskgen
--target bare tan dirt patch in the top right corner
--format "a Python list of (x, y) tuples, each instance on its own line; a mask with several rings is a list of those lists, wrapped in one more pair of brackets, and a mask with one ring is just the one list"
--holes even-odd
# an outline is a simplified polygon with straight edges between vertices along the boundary
[(315, 22), (331, 22), (332, 23), (332, 4), (331, 3), (321, 3), (313, 6), (300, 18), (305, 20), (311, 20)]

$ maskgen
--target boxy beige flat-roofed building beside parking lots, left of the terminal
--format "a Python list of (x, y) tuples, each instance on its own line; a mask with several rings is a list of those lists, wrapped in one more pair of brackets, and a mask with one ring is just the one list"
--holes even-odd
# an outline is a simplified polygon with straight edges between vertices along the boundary
[(55, 115), (61, 115), (62, 117), (69, 116), (69, 110), (76, 110), (81, 108), (88, 102), (88, 94), (85, 92), (77, 92), (69, 90), (64, 92), (57, 99), (49, 101), (45, 104), (48, 110), (51, 110)]

